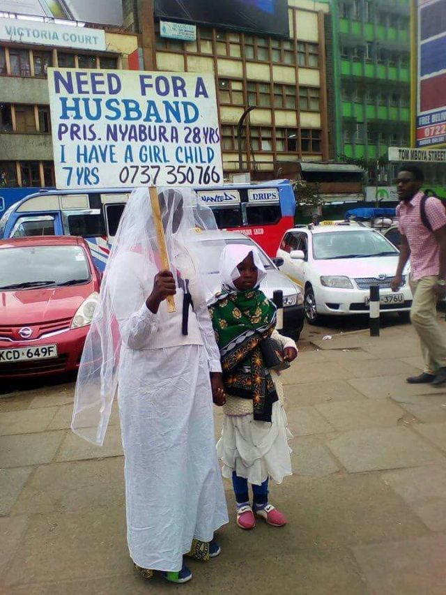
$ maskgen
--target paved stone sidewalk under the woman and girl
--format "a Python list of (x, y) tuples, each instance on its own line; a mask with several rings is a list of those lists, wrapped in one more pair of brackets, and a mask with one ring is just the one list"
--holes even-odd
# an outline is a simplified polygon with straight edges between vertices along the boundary
[(444, 595), (446, 389), (406, 384), (421, 368), (409, 325), (302, 351), (284, 375), (295, 474), (271, 495), (289, 525), (241, 531), (226, 484), (222, 555), (180, 587), (132, 569), (116, 410), (98, 449), (68, 429), (72, 384), (0, 398), (1, 594)]

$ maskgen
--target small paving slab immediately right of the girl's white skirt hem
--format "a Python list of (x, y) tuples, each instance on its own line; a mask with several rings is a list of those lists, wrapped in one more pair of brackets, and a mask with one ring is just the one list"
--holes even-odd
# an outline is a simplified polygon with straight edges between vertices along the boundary
[(293, 449), (291, 463), (295, 475), (325, 477), (341, 468), (330, 451), (314, 438), (297, 438), (289, 444)]

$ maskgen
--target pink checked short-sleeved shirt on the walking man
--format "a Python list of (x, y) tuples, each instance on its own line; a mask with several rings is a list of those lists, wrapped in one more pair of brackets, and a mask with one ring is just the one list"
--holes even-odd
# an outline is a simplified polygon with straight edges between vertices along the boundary
[[(433, 233), (424, 227), (420, 216), (423, 193), (417, 193), (406, 203), (397, 206), (399, 230), (405, 235), (410, 248), (410, 266), (413, 280), (440, 272), (440, 251)], [(434, 232), (446, 225), (446, 210), (441, 202), (430, 197), (426, 200), (426, 216)]]

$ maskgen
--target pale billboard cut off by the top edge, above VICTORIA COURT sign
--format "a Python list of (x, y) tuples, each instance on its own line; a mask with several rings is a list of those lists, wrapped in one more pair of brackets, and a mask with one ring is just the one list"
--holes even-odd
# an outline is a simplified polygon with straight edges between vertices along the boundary
[(121, 26), (122, 0), (0, 0), (0, 11)]

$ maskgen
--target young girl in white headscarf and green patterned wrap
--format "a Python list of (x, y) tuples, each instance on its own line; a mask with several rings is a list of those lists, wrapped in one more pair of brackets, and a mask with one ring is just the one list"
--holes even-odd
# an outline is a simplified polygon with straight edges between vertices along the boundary
[[(220, 348), (226, 392), (222, 437), (217, 453), (224, 477), (231, 478), (237, 502), (237, 525), (254, 529), (256, 517), (268, 525), (286, 524), (283, 513), (268, 502), (268, 479), (282, 483), (291, 475), (292, 437), (287, 428), (279, 375), (263, 363), (261, 341), (279, 341), (286, 361), (298, 355), (295, 342), (275, 331), (276, 308), (259, 289), (266, 276), (256, 248), (226, 246), (220, 260), (223, 291), (210, 303)], [(254, 504), (249, 504), (248, 483)]]

